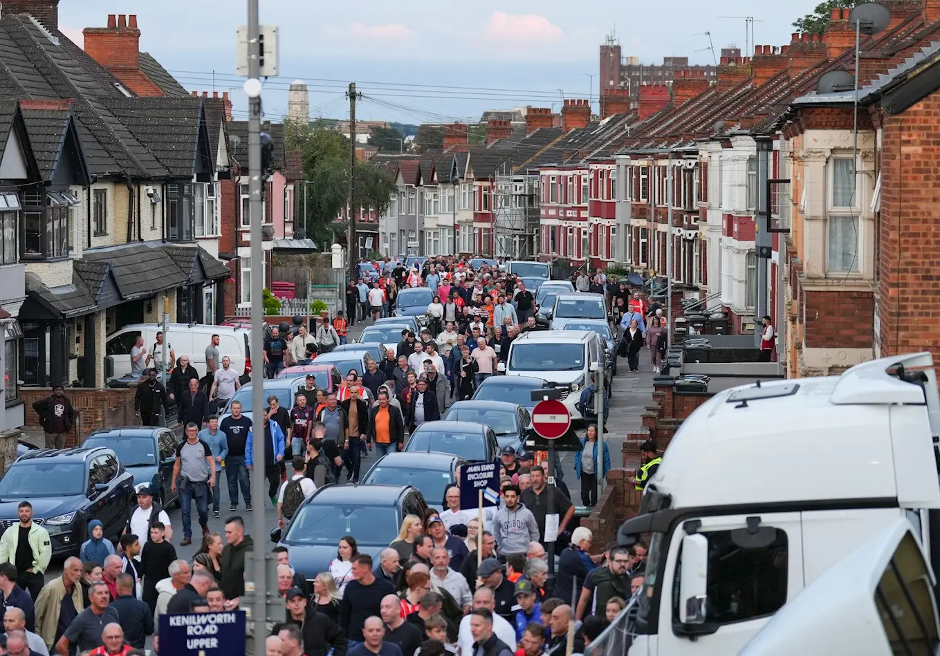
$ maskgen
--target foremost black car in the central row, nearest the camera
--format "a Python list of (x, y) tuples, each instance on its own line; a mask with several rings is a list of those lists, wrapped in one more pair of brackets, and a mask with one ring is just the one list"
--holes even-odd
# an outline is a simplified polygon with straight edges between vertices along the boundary
[(405, 515), (424, 517), (428, 505), (410, 485), (327, 485), (297, 508), (271, 539), (290, 550), (290, 564), (307, 581), (330, 568), (339, 539), (353, 536), (361, 554), (379, 554), (398, 539)]

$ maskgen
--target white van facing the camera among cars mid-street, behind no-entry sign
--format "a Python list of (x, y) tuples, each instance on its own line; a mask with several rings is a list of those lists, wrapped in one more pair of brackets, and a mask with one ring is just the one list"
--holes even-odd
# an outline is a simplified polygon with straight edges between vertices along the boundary
[[(557, 385), (570, 385), (571, 392), (561, 393), (561, 402), (581, 419), (575, 404), (581, 390), (590, 383), (590, 369), (600, 365), (604, 352), (597, 333), (577, 330), (531, 331), (509, 345), (507, 376), (530, 376)], [(502, 365), (500, 365), (502, 368)]]

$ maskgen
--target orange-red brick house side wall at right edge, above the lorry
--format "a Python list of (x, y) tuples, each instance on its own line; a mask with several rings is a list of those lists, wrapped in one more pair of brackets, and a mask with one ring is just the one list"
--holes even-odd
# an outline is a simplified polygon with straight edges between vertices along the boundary
[(882, 198), (876, 263), (882, 355), (940, 357), (940, 93), (882, 119)]

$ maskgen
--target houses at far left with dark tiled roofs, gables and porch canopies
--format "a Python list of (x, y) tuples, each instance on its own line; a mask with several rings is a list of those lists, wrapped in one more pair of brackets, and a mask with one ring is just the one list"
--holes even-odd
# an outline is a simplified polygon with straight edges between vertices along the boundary
[(222, 318), (222, 103), (191, 97), (139, 35), (110, 16), (86, 52), (55, 0), (3, 4), (0, 428), (23, 424), (29, 387), (101, 387), (109, 352), (130, 349), (107, 336), (161, 320), (164, 301), (174, 321)]

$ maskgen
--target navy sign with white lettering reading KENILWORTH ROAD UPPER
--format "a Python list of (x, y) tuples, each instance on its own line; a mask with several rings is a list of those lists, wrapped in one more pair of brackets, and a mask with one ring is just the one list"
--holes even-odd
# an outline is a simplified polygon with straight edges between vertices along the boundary
[(244, 653), (244, 611), (160, 616), (160, 650), (167, 654)]

